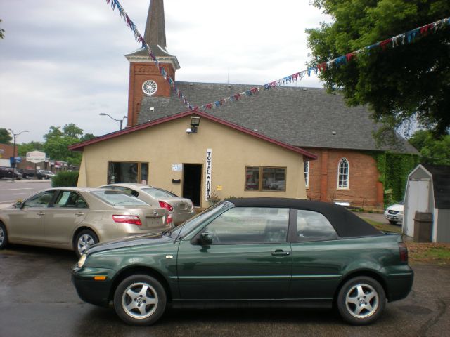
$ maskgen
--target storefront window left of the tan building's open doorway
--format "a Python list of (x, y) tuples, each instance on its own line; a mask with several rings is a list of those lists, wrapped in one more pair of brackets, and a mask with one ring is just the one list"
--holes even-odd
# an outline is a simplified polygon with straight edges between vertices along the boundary
[(110, 161), (108, 184), (148, 183), (148, 163)]

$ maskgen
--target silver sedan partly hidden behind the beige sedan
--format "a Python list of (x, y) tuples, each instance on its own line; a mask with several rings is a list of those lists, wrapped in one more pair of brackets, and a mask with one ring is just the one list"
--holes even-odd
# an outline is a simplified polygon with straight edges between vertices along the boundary
[(131, 194), (136, 198), (146, 201), (152, 206), (160, 206), (172, 214), (174, 225), (184, 223), (195, 216), (195, 209), (190, 199), (178, 197), (172, 192), (162, 188), (143, 184), (110, 184), (101, 186), (101, 188), (113, 188)]

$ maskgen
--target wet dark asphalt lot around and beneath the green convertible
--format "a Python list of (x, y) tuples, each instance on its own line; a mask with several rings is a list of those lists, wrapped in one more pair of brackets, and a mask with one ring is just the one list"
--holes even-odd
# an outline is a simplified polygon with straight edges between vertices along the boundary
[(155, 326), (127, 326), (112, 308), (79, 300), (75, 254), (11, 245), (0, 251), (0, 336), (448, 336), (450, 267), (413, 266), (413, 291), (371, 326), (330, 310), (167, 310)]

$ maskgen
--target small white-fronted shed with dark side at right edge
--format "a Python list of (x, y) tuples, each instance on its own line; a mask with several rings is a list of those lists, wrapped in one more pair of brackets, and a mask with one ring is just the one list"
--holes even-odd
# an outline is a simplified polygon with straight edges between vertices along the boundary
[(419, 164), (409, 174), (402, 229), (409, 237), (416, 211), (432, 213), (432, 242), (450, 242), (450, 166)]

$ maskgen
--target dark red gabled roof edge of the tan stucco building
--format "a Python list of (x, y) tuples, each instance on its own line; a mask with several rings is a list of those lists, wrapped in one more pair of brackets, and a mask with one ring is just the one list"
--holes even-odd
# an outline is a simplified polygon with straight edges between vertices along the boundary
[(313, 154), (311, 152), (308, 152), (306, 150), (303, 150), (300, 147), (296, 147), (296, 146), (290, 145), (288, 143), (283, 143), (283, 142), (281, 142), (279, 140), (275, 140), (275, 139), (269, 138), (269, 137), (264, 136), (264, 135), (262, 135), (260, 133), (257, 133), (255, 131), (249, 130), (248, 128), (243, 128), (242, 126), (238, 126), (236, 124), (232, 124), (229, 121), (225, 121), (224, 119), (220, 119), (219, 117), (212, 116), (211, 114), (206, 114), (205, 112), (201, 112), (199, 110), (189, 110), (189, 111), (186, 111), (186, 112), (181, 112), (179, 114), (172, 114), (169, 117), (163, 117), (163, 118), (160, 118), (160, 119), (155, 119), (154, 121), (148, 121), (147, 123), (139, 124), (139, 125), (133, 126), (131, 128), (125, 128), (124, 130), (116, 131), (116, 132), (113, 132), (113, 133), (108, 133), (106, 135), (93, 138), (91, 140), (86, 140), (86, 141), (81, 142), (81, 143), (72, 144), (72, 145), (69, 146), (69, 150), (72, 150), (72, 151), (83, 151), (84, 147), (87, 146), (87, 145), (100, 143), (103, 140), (117, 138), (117, 137), (120, 137), (122, 135), (126, 135), (127, 133), (132, 133), (132, 132), (135, 132), (135, 131), (143, 130), (145, 128), (151, 128), (152, 126), (156, 126), (158, 124), (167, 123), (169, 121), (173, 121), (174, 119), (180, 119), (180, 118), (183, 118), (183, 117), (186, 117), (186, 116), (191, 116), (191, 115), (200, 116), (202, 118), (209, 119), (210, 121), (217, 122), (217, 123), (222, 124), (224, 126), (228, 126), (229, 128), (233, 128), (234, 130), (237, 130), (237, 131), (240, 131), (240, 132), (243, 132), (243, 133), (247, 133), (250, 136), (254, 136), (256, 138), (259, 138), (259, 139), (262, 139), (262, 140), (266, 140), (269, 143), (272, 143), (272, 144), (284, 147), (285, 149), (288, 149), (288, 150), (293, 151), (293, 152), (297, 152), (299, 154), (302, 154), (304, 157), (306, 157), (305, 158), (306, 160), (317, 159), (317, 156), (315, 154)]

